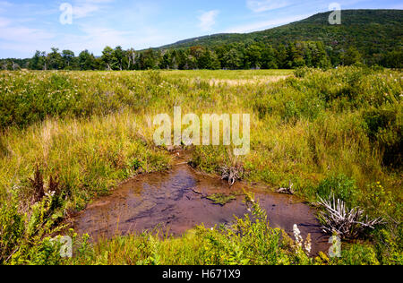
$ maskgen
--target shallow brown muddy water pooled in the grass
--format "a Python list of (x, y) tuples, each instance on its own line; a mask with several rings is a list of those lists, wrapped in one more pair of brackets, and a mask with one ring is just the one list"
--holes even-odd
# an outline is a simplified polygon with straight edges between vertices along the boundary
[(283, 228), (290, 236), (297, 224), (304, 238), (311, 234), (313, 254), (327, 251), (328, 238), (322, 235), (314, 210), (293, 196), (268, 193), (264, 188), (236, 184), (229, 188), (219, 178), (196, 173), (186, 164), (158, 174), (138, 176), (122, 184), (112, 195), (93, 202), (73, 219), (79, 234), (93, 238), (127, 235), (156, 227), (173, 236), (204, 224), (214, 227), (234, 221), (247, 213), (244, 196), (226, 205), (214, 204), (205, 196), (212, 193), (242, 193), (247, 187), (268, 213), (271, 227)]

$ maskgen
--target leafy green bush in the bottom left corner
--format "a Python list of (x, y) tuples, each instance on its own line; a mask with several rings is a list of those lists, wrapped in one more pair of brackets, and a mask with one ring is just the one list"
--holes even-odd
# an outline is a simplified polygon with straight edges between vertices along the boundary
[(60, 244), (51, 241), (63, 227), (55, 226), (52, 196), (22, 214), (15, 198), (0, 207), (0, 264), (61, 264)]

